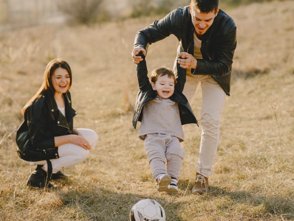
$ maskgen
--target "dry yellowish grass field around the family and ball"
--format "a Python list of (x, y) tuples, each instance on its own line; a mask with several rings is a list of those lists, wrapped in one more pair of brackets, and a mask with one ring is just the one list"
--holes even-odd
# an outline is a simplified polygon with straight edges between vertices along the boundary
[[(0, 220), (127, 221), (133, 204), (146, 198), (163, 206), (167, 221), (294, 220), (293, 11), (290, 0), (227, 11), (237, 24), (238, 44), (204, 195), (191, 194), (200, 128), (185, 127), (180, 191), (166, 194), (157, 192), (132, 127), (138, 91), (133, 39), (155, 17), (0, 33)], [(172, 67), (177, 45), (174, 36), (151, 45), (148, 69)], [(99, 141), (86, 161), (64, 170), (73, 177), (54, 182), (58, 189), (36, 191), (26, 186), (35, 167), (16, 154), (15, 136), (21, 108), (55, 57), (73, 71), (74, 125), (95, 130)], [(201, 91), (193, 110), (199, 119)]]

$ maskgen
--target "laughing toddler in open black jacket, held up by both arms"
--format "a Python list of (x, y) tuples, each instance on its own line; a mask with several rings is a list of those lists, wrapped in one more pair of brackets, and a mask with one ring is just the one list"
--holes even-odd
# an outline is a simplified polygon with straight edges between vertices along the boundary
[[(185, 55), (185, 52), (180, 54), (183, 58)], [(157, 190), (178, 192), (177, 183), (185, 156), (180, 145), (184, 141), (182, 125), (197, 123), (191, 106), (182, 93), (186, 69), (178, 65), (176, 78), (171, 69), (158, 68), (152, 72), (150, 84), (145, 56), (142, 52), (138, 56), (143, 61), (137, 65), (140, 90), (133, 126), (136, 128), (137, 121), (141, 121), (139, 138), (144, 140), (151, 172), (158, 184)]]

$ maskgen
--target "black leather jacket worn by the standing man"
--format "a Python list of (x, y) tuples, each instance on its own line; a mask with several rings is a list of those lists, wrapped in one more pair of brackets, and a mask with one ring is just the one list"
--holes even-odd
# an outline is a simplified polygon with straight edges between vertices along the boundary
[[(173, 34), (180, 43), (178, 53), (194, 54), (194, 26), (189, 6), (171, 11), (168, 15), (137, 32), (134, 47), (144, 48)], [(234, 51), (237, 45), (236, 26), (232, 18), (219, 10), (213, 24), (202, 36), (201, 54), (197, 59), (193, 75), (211, 75), (211, 77), (230, 95), (230, 78)]]

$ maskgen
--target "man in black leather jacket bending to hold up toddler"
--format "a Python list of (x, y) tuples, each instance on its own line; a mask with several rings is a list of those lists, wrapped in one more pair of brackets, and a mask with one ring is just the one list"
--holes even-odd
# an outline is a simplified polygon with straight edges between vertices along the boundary
[[(225, 95), (230, 95), (231, 66), (236, 48), (236, 26), (232, 18), (218, 7), (218, 0), (192, 0), (190, 6), (168, 15), (137, 32), (132, 52), (135, 64), (143, 59), (149, 44), (174, 34), (180, 43), (178, 54), (188, 52), (187, 59), (176, 59), (187, 69), (183, 94), (192, 105), (201, 85), (201, 143), (196, 182), (192, 193), (208, 189), (208, 176), (216, 158), (220, 113)], [(174, 65), (174, 69), (176, 65)]]

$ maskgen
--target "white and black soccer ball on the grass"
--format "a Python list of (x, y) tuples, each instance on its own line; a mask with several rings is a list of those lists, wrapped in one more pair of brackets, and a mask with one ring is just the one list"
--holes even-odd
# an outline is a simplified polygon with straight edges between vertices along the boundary
[(130, 212), (131, 221), (165, 221), (162, 206), (153, 199), (142, 199), (133, 205)]

